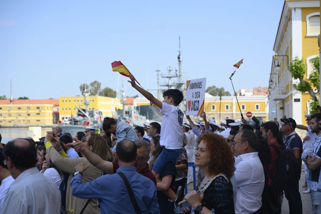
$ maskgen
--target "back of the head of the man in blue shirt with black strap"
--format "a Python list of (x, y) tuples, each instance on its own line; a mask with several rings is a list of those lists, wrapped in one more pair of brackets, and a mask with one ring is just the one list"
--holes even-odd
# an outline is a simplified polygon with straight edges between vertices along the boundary
[(116, 153), (120, 161), (130, 163), (136, 159), (137, 146), (133, 141), (122, 140), (117, 143)]

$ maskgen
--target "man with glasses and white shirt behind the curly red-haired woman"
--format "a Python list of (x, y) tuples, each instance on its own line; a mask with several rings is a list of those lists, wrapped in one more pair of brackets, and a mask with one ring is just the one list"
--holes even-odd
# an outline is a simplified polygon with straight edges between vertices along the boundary
[(264, 170), (255, 151), (258, 142), (253, 131), (243, 130), (235, 135), (231, 149), (235, 158), (237, 202), (235, 213), (255, 213), (262, 206)]

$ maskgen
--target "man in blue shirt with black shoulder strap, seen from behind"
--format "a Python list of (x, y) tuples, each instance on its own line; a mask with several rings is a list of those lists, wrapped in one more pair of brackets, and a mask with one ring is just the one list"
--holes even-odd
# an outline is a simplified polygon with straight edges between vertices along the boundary
[[(135, 171), (136, 144), (129, 140), (120, 141), (116, 152), (116, 160), (119, 163), (117, 173), (122, 172), (126, 176), (142, 213), (160, 213), (155, 184)], [(101, 213), (135, 213), (126, 185), (118, 174), (102, 175), (82, 184), (82, 172), (88, 167), (83, 164), (75, 167), (76, 172), (70, 182), (74, 196), (97, 198)]]

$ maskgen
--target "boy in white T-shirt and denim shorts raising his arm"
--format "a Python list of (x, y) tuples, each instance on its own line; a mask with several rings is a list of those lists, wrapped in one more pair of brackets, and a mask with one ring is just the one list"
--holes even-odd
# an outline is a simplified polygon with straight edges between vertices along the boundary
[[(136, 85), (133, 75), (130, 76), (132, 87), (147, 98), (152, 106), (155, 106), (163, 119), (160, 130), (160, 146), (163, 150), (155, 161), (152, 173), (156, 179), (160, 179), (160, 173), (168, 162), (175, 162), (182, 153), (183, 148), (183, 112), (177, 107), (183, 100), (183, 93), (177, 89), (169, 89), (163, 92), (164, 100), (160, 102), (150, 92)], [(172, 192), (172, 191), (171, 191)], [(175, 193), (172, 192), (174, 195)], [(167, 193), (166, 193), (167, 194)], [(168, 194), (167, 194), (168, 195)], [(174, 195), (168, 195), (172, 200)]]

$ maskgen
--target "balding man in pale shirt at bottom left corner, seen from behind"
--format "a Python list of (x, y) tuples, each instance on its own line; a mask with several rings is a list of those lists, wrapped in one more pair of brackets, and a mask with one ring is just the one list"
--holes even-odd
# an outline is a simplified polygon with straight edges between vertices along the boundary
[(17, 138), (6, 144), (4, 155), (4, 164), (15, 180), (5, 196), (0, 214), (60, 213), (59, 189), (35, 167), (35, 145), (23, 138)]

